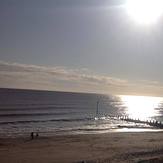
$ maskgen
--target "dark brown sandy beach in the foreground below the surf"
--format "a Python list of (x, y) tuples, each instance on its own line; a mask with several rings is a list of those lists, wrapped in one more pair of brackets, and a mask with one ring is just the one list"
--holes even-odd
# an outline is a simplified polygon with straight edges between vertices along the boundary
[(0, 139), (0, 163), (163, 163), (163, 133)]

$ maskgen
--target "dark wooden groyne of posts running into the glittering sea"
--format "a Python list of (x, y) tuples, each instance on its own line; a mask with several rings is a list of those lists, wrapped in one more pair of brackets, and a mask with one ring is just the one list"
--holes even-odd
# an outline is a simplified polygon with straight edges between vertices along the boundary
[(126, 121), (126, 122), (133, 122), (133, 123), (139, 123), (139, 124), (147, 124), (149, 126), (152, 127), (156, 127), (159, 129), (163, 129), (163, 123), (157, 120), (140, 120), (140, 119), (134, 119), (134, 118), (130, 118), (127, 116), (117, 116), (117, 119), (122, 120), (122, 121)]

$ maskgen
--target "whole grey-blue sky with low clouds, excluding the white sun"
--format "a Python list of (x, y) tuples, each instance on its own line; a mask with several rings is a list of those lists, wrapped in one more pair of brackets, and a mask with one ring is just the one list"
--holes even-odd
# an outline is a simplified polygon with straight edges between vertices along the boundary
[(162, 29), (125, 0), (0, 0), (0, 87), (162, 96)]

